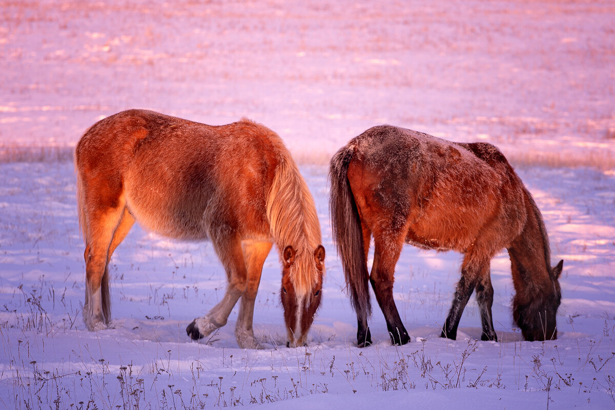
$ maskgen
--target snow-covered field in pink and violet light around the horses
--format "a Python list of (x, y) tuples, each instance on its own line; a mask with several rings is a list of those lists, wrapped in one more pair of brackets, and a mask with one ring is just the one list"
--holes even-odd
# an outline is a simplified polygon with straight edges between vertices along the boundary
[[(0, 1), (0, 408), (614, 408), (613, 21), (609, 1)], [(111, 261), (112, 328), (85, 329), (71, 149), (127, 108), (247, 116), (284, 138), (327, 250), (309, 347), (284, 347), (276, 252), (256, 301), (267, 349), (237, 347), (236, 312), (190, 341), (224, 291), (212, 246), (138, 226)], [(327, 163), (383, 123), (488, 141), (517, 165), (565, 260), (557, 341), (512, 325), (506, 253), (491, 263), (500, 342), (475, 340), (473, 299), (441, 339), (461, 258), (407, 246), (410, 344), (389, 345), (375, 307), (375, 345), (355, 347)]]

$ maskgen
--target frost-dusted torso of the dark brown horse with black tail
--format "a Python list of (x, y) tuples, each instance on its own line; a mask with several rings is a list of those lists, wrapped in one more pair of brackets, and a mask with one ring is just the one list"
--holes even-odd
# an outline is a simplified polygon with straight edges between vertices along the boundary
[[(491, 144), (458, 144), (405, 128), (370, 128), (351, 142), (348, 175), (362, 219), (424, 248), (466, 251), (478, 237), (518, 231), (522, 191)], [(378, 209), (378, 212), (373, 211)], [(512, 223), (511, 223), (512, 221)], [(376, 233), (376, 232), (375, 232)]]

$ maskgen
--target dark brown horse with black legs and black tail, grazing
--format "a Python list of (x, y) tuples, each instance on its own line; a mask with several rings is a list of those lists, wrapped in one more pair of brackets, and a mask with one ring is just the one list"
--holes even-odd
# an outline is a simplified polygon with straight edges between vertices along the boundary
[[(506, 248), (515, 286), (513, 317), (523, 337), (557, 338), (563, 261), (550, 266), (541, 213), (498, 148), (382, 125), (340, 149), (331, 159), (329, 178), (333, 239), (357, 313), (359, 347), (371, 344), (368, 281), (392, 343), (410, 341), (393, 300), (395, 264), (404, 242), (464, 254), (442, 337), (456, 338), (461, 313), (475, 289), (481, 339), (498, 339), (491, 317), (490, 261)], [(375, 250), (368, 274), (372, 236)]]

